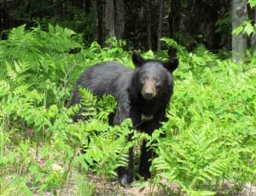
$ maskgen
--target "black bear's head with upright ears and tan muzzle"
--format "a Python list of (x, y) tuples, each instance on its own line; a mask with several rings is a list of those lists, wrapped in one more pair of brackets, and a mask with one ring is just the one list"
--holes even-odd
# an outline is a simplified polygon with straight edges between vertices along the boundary
[(144, 100), (151, 101), (159, 96), (172, 95), (172, 72), (178, 66), (177, 57), (166, 62), (146, 60), (134, 51), (132, 61), (136, 66), (131, 81), (132, 89), (136, 89), (136, 92), (142, 95)]

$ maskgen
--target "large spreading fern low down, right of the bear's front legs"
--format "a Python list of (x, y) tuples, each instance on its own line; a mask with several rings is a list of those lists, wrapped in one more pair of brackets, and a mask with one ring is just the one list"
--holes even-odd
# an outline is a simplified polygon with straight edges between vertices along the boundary
[(177, 182), (183, 190), (196, 190), (203, 183), (224, 178), (232, 158), (222, 151), (220, 138), (204, 129), (183, 130), (180, 135), (158, 145), (159, 158), (154, 159), (157, 176)]

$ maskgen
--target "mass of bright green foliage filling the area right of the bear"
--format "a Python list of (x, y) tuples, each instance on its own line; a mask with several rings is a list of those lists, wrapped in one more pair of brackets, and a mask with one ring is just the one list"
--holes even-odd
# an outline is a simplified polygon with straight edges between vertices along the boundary
[[(212, 195), (224, 181), (256, 180), (255, 72), (205, 54), (181, 59), (189, 76), (176, 83), (163, 127), (169, 137), (154, 137), (160, 140), (153, 167), (158, 180), (177, 182), (191, 195)], [(190, 71), (190, 61), (201, 70)]]

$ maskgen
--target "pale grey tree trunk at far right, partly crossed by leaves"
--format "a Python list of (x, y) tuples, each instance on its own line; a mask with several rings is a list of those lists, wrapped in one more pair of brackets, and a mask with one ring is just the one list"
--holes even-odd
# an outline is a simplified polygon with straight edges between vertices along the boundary
[[(241, 26), (247, 20), (247, 0), (232, 1), (232, 29)], [(232, 34), (232, 57), (233, 61), (241, 62), (247, 49), (247, 36), (245, 33)]]

